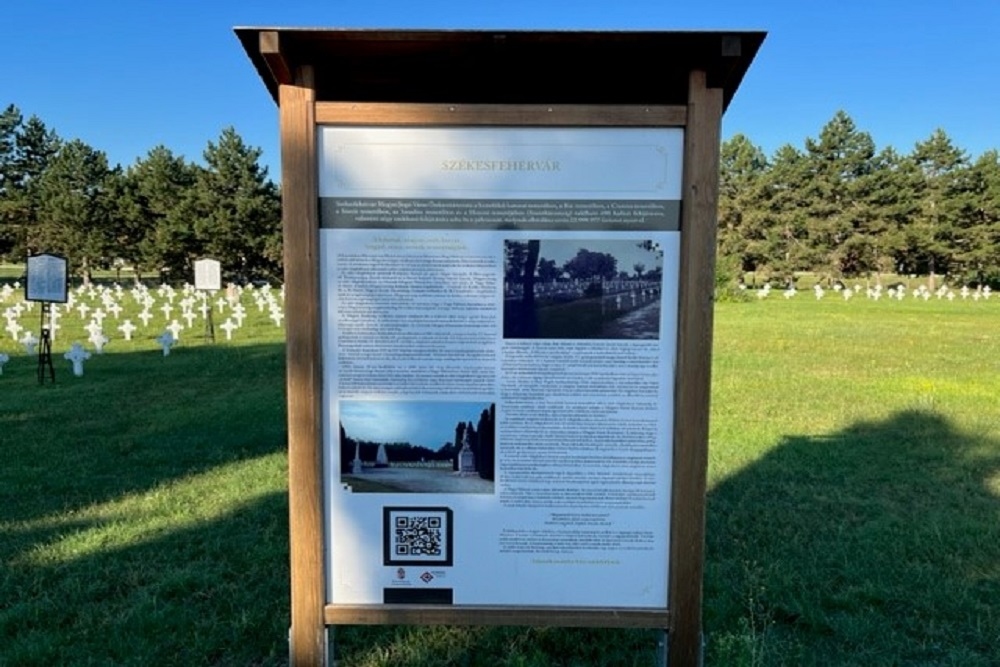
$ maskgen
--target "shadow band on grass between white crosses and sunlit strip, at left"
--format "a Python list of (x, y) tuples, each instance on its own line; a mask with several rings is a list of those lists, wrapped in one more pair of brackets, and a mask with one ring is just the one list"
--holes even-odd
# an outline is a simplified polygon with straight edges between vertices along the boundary
[(0, 521), (285, 450), (283, 345), (95, 354), (79, 378), (59, 362), (55, 384), (38, 384), (33, 360), (0, 384)]

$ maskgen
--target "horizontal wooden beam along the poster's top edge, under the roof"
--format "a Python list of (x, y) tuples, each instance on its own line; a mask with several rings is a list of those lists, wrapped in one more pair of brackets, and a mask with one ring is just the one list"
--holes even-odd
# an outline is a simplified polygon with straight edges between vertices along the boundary
[(322, 125), (683, 127), (683, 106), (317, 102)]

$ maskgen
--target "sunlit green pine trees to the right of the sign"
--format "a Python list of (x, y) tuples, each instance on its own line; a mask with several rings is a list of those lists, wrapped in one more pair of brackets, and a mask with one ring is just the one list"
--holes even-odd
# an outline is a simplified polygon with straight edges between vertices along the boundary
[(770, 158), (738, 134), (722, 145), (719, 186), (720, 274), (1000, 283), (1000, 154), (972, 159), (944, 130), (905, 155), (876, 150), (839, 111)]

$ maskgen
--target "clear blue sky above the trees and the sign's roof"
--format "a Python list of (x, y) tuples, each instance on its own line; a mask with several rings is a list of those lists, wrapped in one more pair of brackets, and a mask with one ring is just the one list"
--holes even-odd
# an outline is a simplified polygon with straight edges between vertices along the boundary
[(770, 155), (838, 109), (900, 152), (1000, 148), (1000, 0), (30, 0), (5, 3), (0, 105), (112, 163), (201, 162), (233, 126), (278, 177), (277, 109), (234, 26), (766, 30), (723, 121)]

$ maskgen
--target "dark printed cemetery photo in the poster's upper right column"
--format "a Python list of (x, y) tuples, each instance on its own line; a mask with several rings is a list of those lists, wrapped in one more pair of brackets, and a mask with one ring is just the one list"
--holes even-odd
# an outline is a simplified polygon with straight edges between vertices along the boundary
[(505, 241), (504, 338), (657, 339), (662, 282), (652, 241)]

